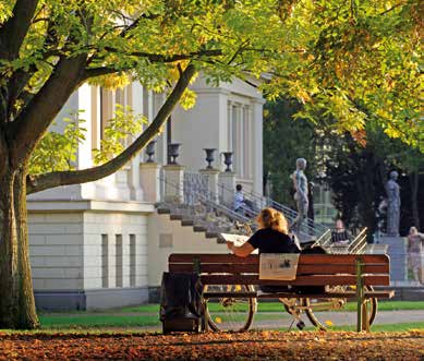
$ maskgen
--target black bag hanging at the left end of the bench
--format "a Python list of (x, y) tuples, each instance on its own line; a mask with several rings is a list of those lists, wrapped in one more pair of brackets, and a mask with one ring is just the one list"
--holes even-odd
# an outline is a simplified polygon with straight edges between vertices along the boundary
[(198, 332), (204, 316), (203, 286), (197, 274), (165, 272), (160, 289), (163, 334)]

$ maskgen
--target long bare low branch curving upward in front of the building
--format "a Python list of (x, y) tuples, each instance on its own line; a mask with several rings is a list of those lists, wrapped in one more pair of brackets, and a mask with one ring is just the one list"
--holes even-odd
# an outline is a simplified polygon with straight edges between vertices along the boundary
[(37, 177), (28, 177), (27, 194), (40, 192), (49, 188), (59, 185), (80, 184), (93, 182), (98, 179), (112, 175), (130, 161), (147, 143), (160, 132), (160, 128), (166, 122), (174, 106), (180, 100), (182, 94), (190, 84), (195, 74), (193, 64), (189, 64), (181, 74), (171, 94), (168, 96), (163, 106), (158, 111), (154, 121), (147, 129), (119, 156), (108, 163), (89, 169), (74, 171), (57, 171)]

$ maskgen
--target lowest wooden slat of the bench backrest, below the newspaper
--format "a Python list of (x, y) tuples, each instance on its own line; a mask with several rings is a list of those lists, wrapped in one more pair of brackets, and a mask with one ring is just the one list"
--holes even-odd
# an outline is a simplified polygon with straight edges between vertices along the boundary
[[(389, 275), (365, 275), (366, 286), (389, 286)], [(265, 280), (257, 275), (202, 275), (203, 285), (293, 285), (293, 286), (350, 286), (356, 284), (356, 276), (350, 275), (310, 275), (299, 276), (294, 280)]]

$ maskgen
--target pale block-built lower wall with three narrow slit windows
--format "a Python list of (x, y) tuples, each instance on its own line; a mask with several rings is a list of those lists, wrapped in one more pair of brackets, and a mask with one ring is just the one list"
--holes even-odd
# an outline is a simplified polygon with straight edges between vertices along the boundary
[[(109, 241), (107, 288), (147, 287), (147, 218), (152, 212), (153, 206), (137, 203), (29, 202), (34, 289), (105, 288), (105, 237)], [(122, 257), (117, 256), (117, 236), (122, 239)], [(133, 255), (130, 239), (134, 241)], [(117, 262), (122, 264), (121, 286), (117, 285)]]

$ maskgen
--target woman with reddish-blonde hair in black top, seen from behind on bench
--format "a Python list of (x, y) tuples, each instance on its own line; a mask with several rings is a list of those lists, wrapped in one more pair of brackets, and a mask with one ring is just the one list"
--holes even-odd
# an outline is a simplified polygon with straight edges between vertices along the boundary
[(272, 208), (264, 208), (257, 217), (259, 229), (242, 245), (227, 242), (227, 246), (238, 256), (245, 257), (255, 249), (259, 253), (299, 253), (300, 250), (289, 236), (286, 217)]

